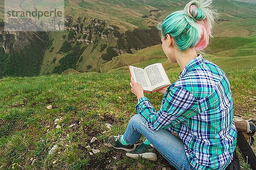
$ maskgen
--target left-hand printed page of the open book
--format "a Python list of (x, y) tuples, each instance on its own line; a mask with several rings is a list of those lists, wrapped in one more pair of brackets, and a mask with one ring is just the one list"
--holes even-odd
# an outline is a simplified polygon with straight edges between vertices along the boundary
[(147, 77), (144, 73), (143, 68), (138, 68), (131, 65), (129, 66), (129, 68), (131, 71), (131, 77), (134, 78), (134, 81), (140, 83), (143, 87), (143, 90), (149, 91), (150, 85), (148, 85), (147, 83)]

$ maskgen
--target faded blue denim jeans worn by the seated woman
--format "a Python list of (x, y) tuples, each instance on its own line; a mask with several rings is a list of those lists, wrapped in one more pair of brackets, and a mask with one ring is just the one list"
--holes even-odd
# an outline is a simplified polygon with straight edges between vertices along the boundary
[(170, 133), (169, 130), (150, 130), (140, 114), (131, 117), (128, 126), (123, 134), (128, 144), (134, 144), (141, 136), (145, 136), (154, 148), (178, 170), (193, 170), (185, 153), (183, 141)]

